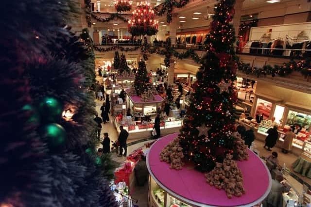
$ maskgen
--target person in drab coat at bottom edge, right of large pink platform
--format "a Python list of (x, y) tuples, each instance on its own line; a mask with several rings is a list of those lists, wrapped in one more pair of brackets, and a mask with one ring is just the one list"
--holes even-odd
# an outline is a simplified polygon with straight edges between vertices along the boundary
[(284, 186), (281, 184), (282, 174), (277, 174), (276, 179), (272, 180), (272, 187), (268, 196), (262, 201), (263, 207), (283, 207)]

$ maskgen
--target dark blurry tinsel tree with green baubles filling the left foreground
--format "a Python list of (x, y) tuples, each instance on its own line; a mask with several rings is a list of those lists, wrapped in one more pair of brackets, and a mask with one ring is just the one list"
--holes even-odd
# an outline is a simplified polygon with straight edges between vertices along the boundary
[(116, 207), (94, 149), (91, 41), (64, 22), (76, 1), (3, 6), (0, 206)]

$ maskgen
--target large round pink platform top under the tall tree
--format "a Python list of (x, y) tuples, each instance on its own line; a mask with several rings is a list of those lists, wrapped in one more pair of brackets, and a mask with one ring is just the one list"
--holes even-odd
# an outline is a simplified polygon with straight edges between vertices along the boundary
[(161, 150), (178, 135), (167, 135), (156, 141), (147, 157), (147, 167), (150, 175), (161, 188), (174, 197), (190, 205), (207, 207), (246, 207), (260, 203), (271, 189), (271, 175), (266, 165), (252, 151), (249, 159), (237, 161), (242, 170), (243, 185), (246, 193), (241, 197), (229, 199), (224, 190), (218, 190), (206, 182), (203, 173), (185, 165), (182, 170), (170, 169), (170, 164), (161, 162)]

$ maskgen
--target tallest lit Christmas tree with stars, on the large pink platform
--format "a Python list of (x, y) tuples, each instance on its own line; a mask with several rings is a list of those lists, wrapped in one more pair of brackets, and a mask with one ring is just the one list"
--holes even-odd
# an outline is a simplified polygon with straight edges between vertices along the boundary
[(202, 172), (212, 170), (227, 153), (235, 154), (236, 139), (231, 134), (235, 123), (232, 87), (236, 79), (235, 37), (229, 24), (234, 3), (235, 0), (220, 0), (215, 5), (207, 54), (201, 60), (179, 135), (185, 158)]

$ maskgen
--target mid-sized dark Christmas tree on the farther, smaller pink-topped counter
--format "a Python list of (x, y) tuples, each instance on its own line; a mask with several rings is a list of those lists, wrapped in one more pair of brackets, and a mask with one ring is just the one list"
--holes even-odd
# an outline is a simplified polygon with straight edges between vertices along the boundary
[(150, 77), (147, 73), (146, 64), (143, 60), (138, 62), (138, 71), (134, 80), (135, 92), (138, 96), (142, 95), (143, 92), (147, 91), (151, 87)]

